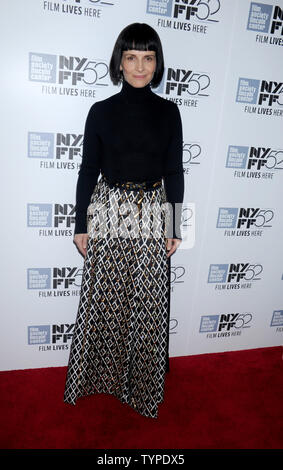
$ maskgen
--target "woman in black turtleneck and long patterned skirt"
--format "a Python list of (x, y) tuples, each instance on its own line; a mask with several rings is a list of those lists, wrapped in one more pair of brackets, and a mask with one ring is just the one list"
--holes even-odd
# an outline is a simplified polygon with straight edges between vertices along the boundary
[(179, 109), (151, 90), (163, 73), (155, 30), (127, 26), (110, 61), (122, 88), (86, 120), (74, 237), (85, 262), (64, 394), (71, 404), (113, 394), (152, 418), (169, 371), (170, 257), (184, 194)]

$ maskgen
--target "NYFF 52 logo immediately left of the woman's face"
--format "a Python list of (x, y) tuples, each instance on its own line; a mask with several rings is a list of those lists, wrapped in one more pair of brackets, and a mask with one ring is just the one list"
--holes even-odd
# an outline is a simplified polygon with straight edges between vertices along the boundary
[(94, 98), (108, 86), (108, 65), (104, 59), (30, 52), (29, 80), (43, 83), (43, 94)]

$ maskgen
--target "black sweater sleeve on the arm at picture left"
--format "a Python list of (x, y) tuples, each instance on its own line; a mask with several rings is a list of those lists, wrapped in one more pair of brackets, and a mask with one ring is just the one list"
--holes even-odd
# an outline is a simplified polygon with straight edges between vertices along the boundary
[(87, 233), (87, 208), (100, 173), (101, 142), (97, 133), (96, 103), (89, 110), (84, 130), (82, 163), (76, 188), (76, 233)]

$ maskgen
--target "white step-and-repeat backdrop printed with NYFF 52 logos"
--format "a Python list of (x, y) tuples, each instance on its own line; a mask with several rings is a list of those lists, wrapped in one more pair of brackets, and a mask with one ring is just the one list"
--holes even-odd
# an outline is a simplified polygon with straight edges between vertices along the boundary
[(183, 243), (170, 356), (282, 344), (283, 1), (14, 0), (1, 8), (1, 370), (67, 364), (83, 258), (75, 186), (109, 60), (145, 22), (180, 109)]

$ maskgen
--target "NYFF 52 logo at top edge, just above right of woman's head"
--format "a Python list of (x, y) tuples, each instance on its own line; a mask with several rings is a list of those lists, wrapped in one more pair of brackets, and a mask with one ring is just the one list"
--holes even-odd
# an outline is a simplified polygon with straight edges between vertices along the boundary
[(206, 34), (219, 22), (220, 0), (147, 0), (146, 13), (156, 15), (157, 26)]

